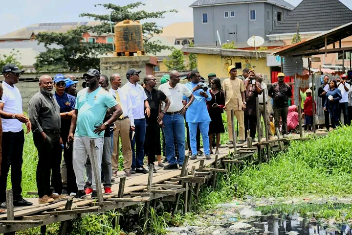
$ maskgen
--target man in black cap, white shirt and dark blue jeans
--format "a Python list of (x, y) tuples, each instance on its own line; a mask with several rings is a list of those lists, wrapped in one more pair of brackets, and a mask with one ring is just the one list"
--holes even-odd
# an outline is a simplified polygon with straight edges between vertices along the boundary
[[(132, 114), (134, 119), (134, 129), (135, 134), (131, 141), (132, 147), (132, 167), (131, 173), (143, 173), (147, 174), (149, 171), (143, 167), (144, 159), (144, 139), (146, 133), (146, 119), (144, 114), (150, 116), (150, 107), (147, 101), (147, 94), (144, 92), (144, 88), (138, 84), (140, 81), (139, 73), (135, 69), (130, 69), (126, 72), (126, 77), (129, 80), (126, 85), (124, 85), (121, 90), (125, 94), (129, 94), (132, 103)], [(136, 150), (134, 152), (134, 145), (136, 145)]]

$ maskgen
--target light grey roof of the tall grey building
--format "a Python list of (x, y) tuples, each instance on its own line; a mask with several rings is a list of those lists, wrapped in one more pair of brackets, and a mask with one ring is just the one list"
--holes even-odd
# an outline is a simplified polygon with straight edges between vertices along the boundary
[(250, 3), (250, 2), (267, 2), (269, 4), (285, 7), (293, 10), (294, 6), (285, 0), (197, 0), (193, 2), (190, 7), (217, 5), (217, 4), (231, 4), (231, 3)]

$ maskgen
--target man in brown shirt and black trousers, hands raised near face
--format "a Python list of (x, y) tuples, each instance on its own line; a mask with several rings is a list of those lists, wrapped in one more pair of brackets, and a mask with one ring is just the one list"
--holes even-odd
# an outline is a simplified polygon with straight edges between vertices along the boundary
[[(256, 98), (259, 94), (262, 94), (262, 86), (256, 80), (256, 74), (254, 70), (250, 70), (248, 74), (248, 80), (244, 81), (244, 87), (246, 89), (246, 109), (244, 110), (244, 131), (250, 130), (250, 137), (254, 141), (256, 130), (257, 130), (257, 105)], [(259, 135), (260, 136), (260, 135)]]

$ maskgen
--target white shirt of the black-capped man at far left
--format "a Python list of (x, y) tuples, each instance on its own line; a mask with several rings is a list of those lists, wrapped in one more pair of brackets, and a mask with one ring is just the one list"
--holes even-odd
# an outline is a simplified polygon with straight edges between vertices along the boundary
[[(11, 87), (5, 81), (2, 82), (3, 95), (0, 103), (4, 104), (3, 111), (10, 114), (23, 114), (22, 111), (22, 97), (20, 90), (13, 86)], [(16, 118), (3, 119), (2, 131), (3, 132), (20, 132), (22, 131), (22, 122)]]

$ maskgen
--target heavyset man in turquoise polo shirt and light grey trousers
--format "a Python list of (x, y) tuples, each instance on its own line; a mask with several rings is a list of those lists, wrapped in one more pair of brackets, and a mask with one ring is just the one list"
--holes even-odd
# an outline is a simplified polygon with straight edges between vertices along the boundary
[[(98, 162), (98, 176), (101, 175), (101, 163), (103, 157), (104, 131), (109, 128), (122, 114), (121, 106), (115, 98), (105, 89), (99, 87), (100, 73), (90, 69), (83, 74), (87, 88), (77, 94), (75, 112), (72, 116), (68, 142), (73, 140), (73, 169), (76, 175), (77, 194), (76, 198), (86, 197), (85, 187), (85, 164), (87, 155), (90, 153), (90, 141), (95, 142), (95, 151)], [(103, 123), (107, 110), (114, 113), (111, 118)], [(90, 157), (90, 155), (89, 155)], [(90, 159), (91, 160), (91, 159)], [(90, 161), (91, 162), (91, 161)], [(100, 178), (100, 177), (99, 177)], [(100, 186), (100, 179), (92, 175), (92, 198), (96, 198), (96, 187)]]

